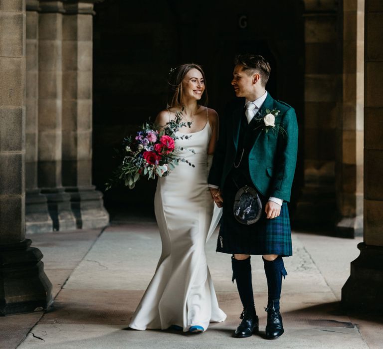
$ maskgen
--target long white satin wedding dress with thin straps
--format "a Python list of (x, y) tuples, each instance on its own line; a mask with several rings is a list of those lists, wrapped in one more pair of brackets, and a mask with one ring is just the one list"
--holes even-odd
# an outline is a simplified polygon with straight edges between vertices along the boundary
[[(207, 114), (207, 109), (206, 109)], [(188, 139), (176, 140), (181, 157), (171, 174), (158, 179), (155, 213), (162, 240), (162, 254), (130, 327), (136, 330), (168, 329), (172, 325), (186, 332), (191, 326), (207, 329), (210, 322), (222, 322), (205, 244), (218, 224), (221, 209), (213, 203), (207, 187), (207, 147), (211, 137), (207, 122)], [(178, 133), (178, 136), (184, 134)]]

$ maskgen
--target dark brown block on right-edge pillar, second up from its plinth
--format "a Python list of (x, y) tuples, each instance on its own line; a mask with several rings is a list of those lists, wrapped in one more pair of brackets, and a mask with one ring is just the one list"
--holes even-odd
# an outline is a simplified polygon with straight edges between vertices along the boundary
[[(383, 150), (365, 150), (365, 199), (383, 200)], [(381, 211), (382, 214), (383, 211)]]

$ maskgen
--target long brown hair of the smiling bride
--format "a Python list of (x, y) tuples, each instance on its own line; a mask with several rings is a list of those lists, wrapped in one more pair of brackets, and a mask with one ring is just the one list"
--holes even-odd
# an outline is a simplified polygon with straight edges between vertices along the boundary
[(183, 90), (182, 90), (182, 81), (185, 78), (185, 75), (188, 74), (189, 70), (191, 69), (197, 69), (203, 77), (203, 82), (205, 85), (205, 90), (202, 94), (200, 104), (201, 105), (207, 105), (207, 89), (206, 89), (206, 79), (205, 79), (205, 73), (203, 72), (202, 68), (198, 64), (189, 63), (189, 64), (182, 64), (179, 65), (176, 68), (173, 68), (169, 72), (169, 92), (168, 92), (168, 107), (179, 107), (182, 108), (182, 100), (184, 98), (183, 96)]

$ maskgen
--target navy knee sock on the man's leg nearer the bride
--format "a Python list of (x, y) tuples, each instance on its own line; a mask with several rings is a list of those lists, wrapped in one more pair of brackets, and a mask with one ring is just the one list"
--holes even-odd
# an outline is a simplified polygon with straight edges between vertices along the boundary
[(231, 257), (231, 267), (233, 269), (232, 282), (234, 282), (235, 279), (243, 308), (253, 310), (254, 295), (253, 285), (251, 283), (250, 257), (244, 260)]

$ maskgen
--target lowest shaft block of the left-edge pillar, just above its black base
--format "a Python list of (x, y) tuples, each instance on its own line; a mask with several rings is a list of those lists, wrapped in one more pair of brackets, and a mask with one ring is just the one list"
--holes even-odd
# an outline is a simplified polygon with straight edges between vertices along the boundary
[[(1, 157), (1, 156), (0, 156)], [(1, 169), (0, 169), (1, 171)], [(1, 183), (0, 183), (1, 185)], [(0, 191), (0, 244), (21, 241), (25, 237), (25, 196)], [(9, 219), (12, 217), (12, 219)]]

